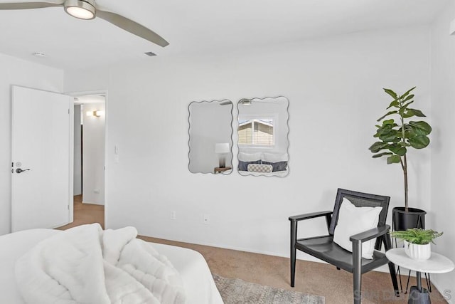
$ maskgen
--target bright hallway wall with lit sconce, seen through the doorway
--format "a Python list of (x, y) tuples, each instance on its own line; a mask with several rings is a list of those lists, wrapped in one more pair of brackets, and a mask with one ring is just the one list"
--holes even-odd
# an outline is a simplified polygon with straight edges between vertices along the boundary
[(105, 103), (85, 103), (82, 135), (82, 203), (105, 204), (105, 117), (87, 116), (105, 112)]

